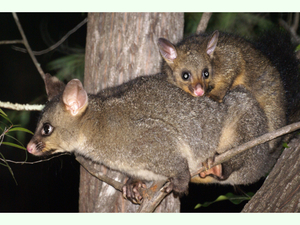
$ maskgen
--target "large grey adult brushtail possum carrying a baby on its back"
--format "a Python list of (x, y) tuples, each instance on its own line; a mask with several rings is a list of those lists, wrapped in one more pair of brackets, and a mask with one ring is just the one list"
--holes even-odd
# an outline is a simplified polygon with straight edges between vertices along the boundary
[[(76, 79), (65, 86), (46, 75), (45, 83), (49, 102), (27, 145), (29, 153), (76, 153), (129, 177), (168, 179), (169, 190), (179, 194), (187, 191), (190, 172), (207, 158), (267, 131), (264, 113), (242, 86), (229, 90), (220, 104), (193, 98), (161, 74), (97, 95), (86, 93)], [(222, 164), (221, 179), (194, 182), (248, 184), (275, 161), (268, 144), (261, 144)]]

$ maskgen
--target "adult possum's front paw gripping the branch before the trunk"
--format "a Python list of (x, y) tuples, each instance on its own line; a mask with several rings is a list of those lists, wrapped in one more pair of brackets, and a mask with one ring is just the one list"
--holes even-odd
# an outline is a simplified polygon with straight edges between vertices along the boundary
[(141, 204), (143, 196), (140, 193), (141, 188), (147, 188), (146, 184), (141, 180), (129, 178), (122, 187), (123, 197), (135, 204)]

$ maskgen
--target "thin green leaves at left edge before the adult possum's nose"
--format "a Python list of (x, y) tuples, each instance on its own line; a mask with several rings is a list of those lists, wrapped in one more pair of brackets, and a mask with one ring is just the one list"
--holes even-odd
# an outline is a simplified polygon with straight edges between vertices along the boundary
[[(4, 119), (4, 121), (0, 120), (0, 130), (1, 130), (0, 147), (3, 144), (3, 145), (19, 148), (22, 150), (26, 150), (26, 148), (24, 147), (22, 142), (20, 142), (17, 138), (12, 136), (11, 132), (20, 131), (20, 132), (26, 132), (26, 133), (30, 133), (30, 134), (33, 134), (33, 133), (30, 130), (27, 130), (26, 128), (20, 127), (18, 125), (14, 125), (11, 122), (11, 120), (8, 118), (7, 114), (5, 114), (5, 112), (3, 112), (2, 109), (0, 109), (0, 116), (2, 117), (2, 120)], [(5, 122), (9, 123), (9, 125), (7, 125)], [(11, 140), (14, 140), (16, 143), (13, 143), (12, 141), (4, 142), (3, 140), (5, 137), (9, 137)], [(27, 152), (26, 152), (25, 161), (26, 160), (27, 160)], [(17, 184), (17, 181), (14, 177), (14, 173), (13, 173), (11, 167), (9, 166), (8, 162), (6, 161), (4, 155), (1, 152), (0, 152), (0, 165), (8, 168), (9, 172), (11, 173), (13, 179), (15, 180), (15, 182)]]

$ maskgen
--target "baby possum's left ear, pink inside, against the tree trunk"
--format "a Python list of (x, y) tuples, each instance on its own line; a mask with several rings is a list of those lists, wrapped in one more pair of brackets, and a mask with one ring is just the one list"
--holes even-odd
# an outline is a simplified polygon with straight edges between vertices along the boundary
[(159, 52), (164, 60), (170, 65), (174, 59), (177, 58), (177, 51), (175, 46), (167, 39), (159, 38), (157, 42)]

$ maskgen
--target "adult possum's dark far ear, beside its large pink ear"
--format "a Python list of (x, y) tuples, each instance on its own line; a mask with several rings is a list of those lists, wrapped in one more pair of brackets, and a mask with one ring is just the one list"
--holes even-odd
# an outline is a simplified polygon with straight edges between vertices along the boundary
[(47, 73), (45, 74), (45, 87), (48, 100), (50, 101), (53, 97), (63, 92), (65, 84), (57, 79), (57, 77), (52, 77)]

